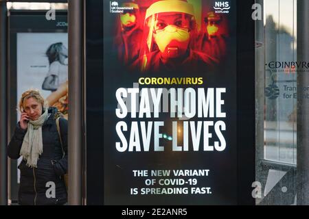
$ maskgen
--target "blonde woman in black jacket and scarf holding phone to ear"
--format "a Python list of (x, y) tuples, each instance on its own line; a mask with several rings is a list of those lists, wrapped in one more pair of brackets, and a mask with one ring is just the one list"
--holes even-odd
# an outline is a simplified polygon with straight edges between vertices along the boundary
[(27, 90), (19, 101), (21, 118), (8, 145), (8, 156), (12, 159), (23, 156), (19, 164), (20, 205), (67, 202), (62, 179), (67, 172), (67, 120), (59, 120), (61, 144), (56, 127), (57, 110), (46, 105), (37, 90)]

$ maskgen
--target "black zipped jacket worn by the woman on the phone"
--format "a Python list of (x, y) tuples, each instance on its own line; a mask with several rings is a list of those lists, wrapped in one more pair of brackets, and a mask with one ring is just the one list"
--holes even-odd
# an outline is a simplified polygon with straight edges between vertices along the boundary
[[(48, 109), (49, 117), (42, 126), (43, 153), (40, 155), (37, 168), (26, 166), (22, 160), (19, 164), (21, 181), (19, 186), (20, 205), (63, 205), (67, 202), (67, 190), (62, 175), (67, 173), (67, 120), (60, 118), (60, 134), (65, 151), (62, 158), (62, 147), (58, 136), (55, 113), (57, 109)], [(21, 129), (19, 123), (14, 136), (8, 145), (8, 156), (18, 159), (27, 130)], [(55, 195), (53, 195), (53, 188)]]

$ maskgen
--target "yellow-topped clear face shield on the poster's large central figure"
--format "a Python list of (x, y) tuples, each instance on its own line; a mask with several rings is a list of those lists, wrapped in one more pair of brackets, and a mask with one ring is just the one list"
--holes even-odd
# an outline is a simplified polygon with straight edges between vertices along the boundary
[(144, 25), (141, 55), (157, 51), (165, 59), (181, 57), (196, 28), (193, 6), (180, 0), (157, 1), (146, 11)]

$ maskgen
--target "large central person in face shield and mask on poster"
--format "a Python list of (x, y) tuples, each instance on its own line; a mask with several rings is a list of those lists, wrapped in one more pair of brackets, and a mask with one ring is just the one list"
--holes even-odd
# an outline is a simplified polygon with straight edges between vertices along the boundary
[(196, 21), (194, 8), (187, 1), (152, 3), (146, 10), (144, 31), (144, 46), (137, 62), (141, 72), (205, 73), (216, 64), (214, 58), (190, 48), (196, 36)]

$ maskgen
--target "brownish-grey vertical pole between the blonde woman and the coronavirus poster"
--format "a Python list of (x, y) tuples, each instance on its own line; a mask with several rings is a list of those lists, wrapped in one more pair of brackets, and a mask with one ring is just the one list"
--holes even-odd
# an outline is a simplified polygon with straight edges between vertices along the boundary
[(82, 205), (84, 1), (69, 0), (69, 205)]

